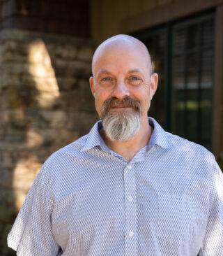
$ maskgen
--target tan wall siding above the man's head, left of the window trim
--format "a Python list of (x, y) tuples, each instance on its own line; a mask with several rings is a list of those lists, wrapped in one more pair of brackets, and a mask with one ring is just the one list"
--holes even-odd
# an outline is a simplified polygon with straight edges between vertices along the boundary
[(122, 34), (121, 23), (126, 18), (148, 10), (162, 8), (182, 0), (92, 0), (91, 34), (97, 43), (116, 34)]

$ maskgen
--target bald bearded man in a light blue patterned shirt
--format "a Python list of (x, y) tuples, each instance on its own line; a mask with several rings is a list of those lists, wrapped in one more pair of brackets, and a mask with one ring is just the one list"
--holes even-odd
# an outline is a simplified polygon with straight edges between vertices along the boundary
[(201, 145), (147, 117), (146, 46), (118, 35), (92, 63), (101, 121), (55, 152), (8, 235), (17, 255), (223, 255), (223, 175)]

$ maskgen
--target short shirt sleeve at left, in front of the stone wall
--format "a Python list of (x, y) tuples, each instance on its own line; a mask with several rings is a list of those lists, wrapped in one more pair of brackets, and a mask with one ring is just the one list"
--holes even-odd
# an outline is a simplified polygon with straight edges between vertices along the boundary
[(59, 255), (59, 246), (52, 234), (45, 179), (43, 165), (8, 234), (8, 247), (17, 250), (17, 255)]

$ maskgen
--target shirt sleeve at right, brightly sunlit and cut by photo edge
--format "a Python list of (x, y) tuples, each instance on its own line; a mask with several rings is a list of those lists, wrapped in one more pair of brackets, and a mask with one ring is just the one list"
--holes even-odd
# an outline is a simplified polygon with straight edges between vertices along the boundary
[(210, 178), (210, 211), (199, 256), (223, 255), (223, 173), (213, 157)]

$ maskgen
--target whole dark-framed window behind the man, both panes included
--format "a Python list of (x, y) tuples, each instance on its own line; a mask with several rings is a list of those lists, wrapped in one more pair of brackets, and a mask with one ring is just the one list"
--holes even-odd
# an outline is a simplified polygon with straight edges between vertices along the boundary
[(159, 74), (148, 115), (164, 129), (211, 149), (215, 15), (208, 13), (133, 36)]

